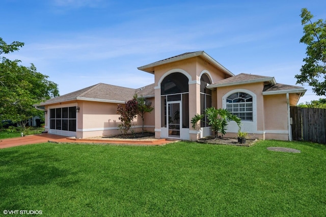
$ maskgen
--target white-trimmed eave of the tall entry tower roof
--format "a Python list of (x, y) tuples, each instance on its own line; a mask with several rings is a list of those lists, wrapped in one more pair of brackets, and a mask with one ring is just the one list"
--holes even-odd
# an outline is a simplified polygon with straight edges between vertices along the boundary
[(198, 56), (202, 56), (204, 59), (211, 62), (215, 67), (218, 67), (219, 69), (221, 69), (226, 74), (234, 76), (234, 74), (232, 72), (230, 72), (227, 68), (222, 66), (219, 62), (217, 62), (216, 60), (211, 58), (209, 55), (207, 55), (207, 53), (205, 53), (204, 51), (189, 53), (189, 54), (184, 55), (184, 56), (180, 56), (180, 57), (176, 57), (176, 58), (172, 58), (172, 59), (168, 59), (168, 60), (163, 60), (163, 61), (147, 64), (145, 66), (138, 67), (138, 69), (142, 70), (142, 71), (145, 71), (145, 72), (149, 72), (151, 74), (154, 74), (154, 67), (156, 67), (156, 66), (177, 62), (177, 61), (180, 61), (180, 60), (186, 60), (186, 59), (193, 58), (193, 57), (198, 57)]

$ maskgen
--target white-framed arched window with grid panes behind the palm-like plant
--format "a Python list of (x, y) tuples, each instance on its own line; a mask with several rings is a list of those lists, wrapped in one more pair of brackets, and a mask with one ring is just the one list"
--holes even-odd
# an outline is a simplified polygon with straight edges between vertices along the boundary
[(226, 109), (241, 121), (253, 121), (253, 97), (248, 93), (237, 92), (226, 99)]

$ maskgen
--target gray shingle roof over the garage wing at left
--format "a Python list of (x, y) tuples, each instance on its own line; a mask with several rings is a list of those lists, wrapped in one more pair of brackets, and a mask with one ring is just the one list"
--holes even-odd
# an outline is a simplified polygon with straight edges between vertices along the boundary
[(107, 101), (123, 103), (132, 99), (133, 95), (137, 93), (138, 96), (153, 96), (154, 84), (145, 86), (143, 88), (132, 89), (119, 87), (114, 85), (107, 85), (99, 83), (72, 93), (68, 93), (56, 98), (49, 99), (39, 105), (46, 105), (58, 102), (72, 101), (72, 100), (88, 100), (88, 101)]

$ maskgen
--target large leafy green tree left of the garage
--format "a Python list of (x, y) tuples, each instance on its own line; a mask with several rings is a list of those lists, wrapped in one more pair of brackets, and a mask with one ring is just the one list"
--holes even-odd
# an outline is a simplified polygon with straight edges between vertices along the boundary
[[(16, 51), (23, 45), (22, 42), (8, 45), (0, 38), (0, 55)], [(59, 96), (59, 90), (57, 84), (47, 80), (47, 75), (37, 72), (34, 64), (25, 67), (19, 63), (19, 60), (1, 57), (0, 119), (19, 122), (24, 127), (29, 118), (44, 115), (33, 104)]]

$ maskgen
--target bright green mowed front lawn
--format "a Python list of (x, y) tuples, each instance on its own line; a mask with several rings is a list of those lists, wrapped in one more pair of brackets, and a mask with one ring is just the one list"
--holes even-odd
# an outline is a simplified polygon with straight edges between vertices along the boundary
[[(301, 153), (268, 151), (289, 147)], [(326, 146), (178, 142), (0, 149), (0, 210), (43, 216), (325, 216)]]

